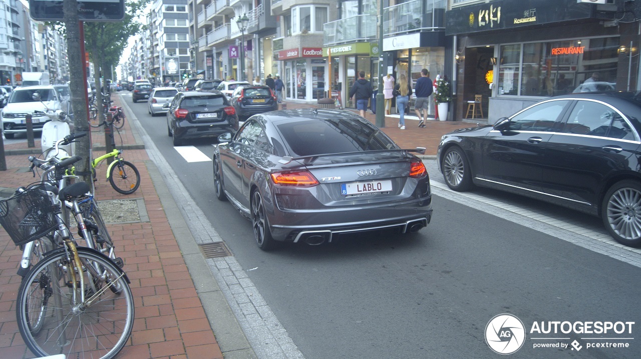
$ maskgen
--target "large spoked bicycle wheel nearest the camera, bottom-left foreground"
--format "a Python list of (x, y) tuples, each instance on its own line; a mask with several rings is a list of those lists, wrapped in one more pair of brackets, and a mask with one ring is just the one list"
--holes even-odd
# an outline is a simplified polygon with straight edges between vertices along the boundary
[[(81, 261), (75, 266), (64, 250), (54, 251), (41, 260), (24, 278), (18, 291), (16, 315), (22, 339), (36, 356), (64, 354), (67, 358), (113, 358), (125, 346), (133, 328), (134, 303), (128, 280), (121, 269), (103, 255), (78, 248)], [(75, 269), (76, 289), (71, 276)], [(104, 276), (94, 268), (104, 269)], [(79, 275), (84, 287), (79, 288)], [(106, 291), (118, 283), (122, 294)], [(85, 301), (81, 303), (81, 291)], [(46, 315), (37, 332), (34, 319)]]

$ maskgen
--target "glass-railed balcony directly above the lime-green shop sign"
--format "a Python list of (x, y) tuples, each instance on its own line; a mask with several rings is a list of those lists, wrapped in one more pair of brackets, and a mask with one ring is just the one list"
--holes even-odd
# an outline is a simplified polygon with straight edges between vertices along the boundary
[(323, 34), (324, 46), (376, 40), (376, 15), (356, 15), (327, 22), (323, 24)]

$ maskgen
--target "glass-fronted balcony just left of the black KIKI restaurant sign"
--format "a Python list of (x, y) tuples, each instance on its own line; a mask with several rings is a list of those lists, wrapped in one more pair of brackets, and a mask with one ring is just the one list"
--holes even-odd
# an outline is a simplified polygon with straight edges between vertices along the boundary
[(445, 29), (445, 0), (413, 0), (383, 10), (383, 36)]

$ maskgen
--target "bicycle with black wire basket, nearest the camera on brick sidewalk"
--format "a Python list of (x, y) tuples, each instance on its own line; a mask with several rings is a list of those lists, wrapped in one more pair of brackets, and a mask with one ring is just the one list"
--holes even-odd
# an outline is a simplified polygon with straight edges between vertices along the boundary
[[(16, 245), (65, 226), (40, 186), (46, 184), (0, 201), (0, 224)], [(71, 203), (78, 233), (90, 242), (78, 204), (88, 189), (85, 182), (78, 182), (65, 187), (58, 197)], [(16, 316), (22, 339), (35, 355), (113, 358), (133, 328), (129, 279), (99, 251), (76, 246), (71, 234), (63, 238), (62, 248), (47, 252), (24, 277)]]

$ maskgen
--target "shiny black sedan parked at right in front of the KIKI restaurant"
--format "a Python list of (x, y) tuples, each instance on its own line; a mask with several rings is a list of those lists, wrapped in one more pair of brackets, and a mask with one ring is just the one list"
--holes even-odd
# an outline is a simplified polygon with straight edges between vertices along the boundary
[(641, 246), (641, 101), (573, 93), (445, 134), (447, 186), (492, 187), (599, 216), (619, 243)]

